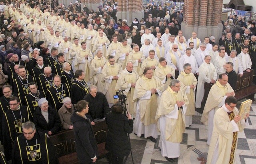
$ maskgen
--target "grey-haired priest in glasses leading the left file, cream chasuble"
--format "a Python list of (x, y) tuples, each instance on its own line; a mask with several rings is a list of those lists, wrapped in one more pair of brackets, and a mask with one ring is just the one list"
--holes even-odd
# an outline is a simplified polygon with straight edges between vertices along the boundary
[(182, 133), (185, 131), (184, 113), (187, 110), (188, 98), (180, 87), (179, 80), (172, 80), (167, 90), (162, 93), (156, 111), (156, 121), (161, 131), (161, 155), (169, 162), (178, 162)]

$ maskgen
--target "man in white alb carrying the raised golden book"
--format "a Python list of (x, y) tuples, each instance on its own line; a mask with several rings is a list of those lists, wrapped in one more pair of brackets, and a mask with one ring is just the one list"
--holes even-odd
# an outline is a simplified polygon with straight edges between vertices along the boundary
[(249, 113), (245, 118), (240, 117), (236, 105), (236, 98), (228, 96), (224, 105), (214, 115), (212, 139), (207, 156), (209, 164), (234, 164), (236, 161), (238, 132), (249, 126)]

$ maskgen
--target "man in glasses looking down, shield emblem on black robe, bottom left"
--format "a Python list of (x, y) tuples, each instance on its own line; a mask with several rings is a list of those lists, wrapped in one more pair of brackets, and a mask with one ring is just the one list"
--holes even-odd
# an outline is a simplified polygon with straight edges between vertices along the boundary
[(27, 121), (22, 125), (23, 134), (14, 141), (12, 163), (58, 164), (54, 146), (45, 133), (36, 131), (35, 124)]

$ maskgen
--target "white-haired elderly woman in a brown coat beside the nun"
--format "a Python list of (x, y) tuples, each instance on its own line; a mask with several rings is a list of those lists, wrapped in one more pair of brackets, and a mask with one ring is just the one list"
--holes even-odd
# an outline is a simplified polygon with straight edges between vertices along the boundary
[(60, 127), (62, 129), (73, 129), (73, 125), (71, 124), (70, 117), (71, 114), (75, 111), (75, 104), (71, 103), (71, 99), (66, 97), (62, 100), (63, 105), (58, 111), (60, 116)]

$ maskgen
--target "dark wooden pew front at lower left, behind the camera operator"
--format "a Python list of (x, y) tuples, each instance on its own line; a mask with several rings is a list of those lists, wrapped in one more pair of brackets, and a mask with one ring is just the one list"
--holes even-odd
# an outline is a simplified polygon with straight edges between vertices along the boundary
[[(105, 121), (95, 123), (93, 127), (94, 137), (98, 143), (98, 157), (104, 157), (108, 151), (105, 149), (105, 141), (108, 126)], [(50, 136), (50, 141), (55, 147), (60, 163), (78, 164), (73, 130), (64, 130)]]

